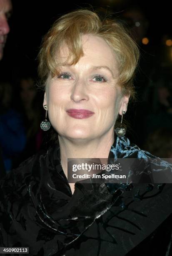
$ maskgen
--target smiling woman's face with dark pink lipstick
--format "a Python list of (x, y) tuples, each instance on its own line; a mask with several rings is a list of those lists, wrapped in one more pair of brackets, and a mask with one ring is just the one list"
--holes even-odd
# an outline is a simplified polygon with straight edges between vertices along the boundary
[[(82, 36), (84, 56), (75, 65), (61, 67), (60, 75), (48, 77), (43, 105), (59, 136), (92, 140), (114, 133), (118, 113), (127, 110), (128, 96), (117, 85), (114, 52), (100, 37)], [(60, 49), (64, 61), (68, 49)]]

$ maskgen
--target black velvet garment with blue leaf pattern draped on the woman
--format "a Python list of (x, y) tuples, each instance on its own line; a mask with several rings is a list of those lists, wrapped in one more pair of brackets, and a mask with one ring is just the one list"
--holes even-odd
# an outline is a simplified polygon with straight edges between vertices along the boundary
[[(109, 154), (151, 157), (125, 137), (115, 138)], [(157, 163), (155, 172), (172, 172)], [(171, 256), (171, 243), (172, 184), (77, 182), (72, 195), (57, 145), (0, 183), (0, 246), (38, 256)]]

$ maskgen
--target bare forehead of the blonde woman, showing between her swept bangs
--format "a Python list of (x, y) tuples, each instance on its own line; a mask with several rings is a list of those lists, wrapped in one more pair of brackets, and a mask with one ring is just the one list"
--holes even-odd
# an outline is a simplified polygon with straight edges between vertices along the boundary
[[(80, 58), (77, 64), (90, 63), (92, 65), (117, 67), (115, 52), (100, 36), (84, 35), (82, 36), (82, 49), (84, 56)], [(66, 45), (60, 48), (60, 58), (62, 61), (67, 59), (69, 49)]]

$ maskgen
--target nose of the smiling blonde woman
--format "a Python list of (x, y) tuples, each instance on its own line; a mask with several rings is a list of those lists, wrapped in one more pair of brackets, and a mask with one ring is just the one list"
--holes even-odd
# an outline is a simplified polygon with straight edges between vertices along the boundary
[(70, 99), (74, 102), (80, 102), (81, 100), (89, 99), (89, 96), (87, 94), (87, 85), (85, 81), (78, 79), (75, 82), (72, 88)]

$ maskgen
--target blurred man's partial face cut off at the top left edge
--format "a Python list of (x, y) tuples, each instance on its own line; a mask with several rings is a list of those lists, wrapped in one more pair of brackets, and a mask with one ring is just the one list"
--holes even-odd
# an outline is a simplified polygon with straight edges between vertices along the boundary
[(11, 0), (0, 0), (0, 60), (3, 56), (3, 49), (10, 31), (8, 18), (12, 10)]

